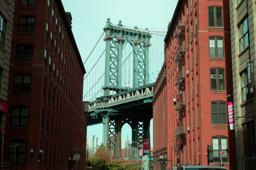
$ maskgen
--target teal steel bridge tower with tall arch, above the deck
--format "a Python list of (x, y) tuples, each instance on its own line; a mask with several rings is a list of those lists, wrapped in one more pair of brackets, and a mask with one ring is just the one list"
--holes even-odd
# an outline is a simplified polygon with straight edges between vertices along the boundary
[(152, 37), (146, 30), (114, 25), (107, 19), (104, 27), (106, 41), (105, 85), (104, 96), (109, 96), (110, 89), (126, 90), (122, 86), (122, 49), (126, 42), (133, 47), (133, 88), (149, 84), (149, 43)]

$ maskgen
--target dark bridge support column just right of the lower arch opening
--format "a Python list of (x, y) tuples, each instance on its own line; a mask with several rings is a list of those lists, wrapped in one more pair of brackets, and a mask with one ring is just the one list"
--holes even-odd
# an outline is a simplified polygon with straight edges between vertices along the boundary
[[(131, 159), (137, 159), (137, 143), (139, 143), (138, 140), (138, 120), (133, 120), (133, 126), (132, 129), (132, 150), (131, 150)], [(133, 143), (136, 142), (136, 143)]]

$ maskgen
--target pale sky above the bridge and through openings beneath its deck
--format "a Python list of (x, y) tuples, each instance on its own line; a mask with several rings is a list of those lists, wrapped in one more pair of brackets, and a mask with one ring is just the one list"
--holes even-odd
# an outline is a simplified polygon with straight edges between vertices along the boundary
[[(110, 18), (113, 24), (118, 24), (121, 20), (125, 26), (167, 29), (177, 2), (178, 0), (62, 0), (65, 11), (72, 14), (72, 31), (83, 62), (103, 32), (107, 18)], [(153, 147), (152, 120), (150, 122), (151, 147)], [(93, 135), (99, 137), (98, 145), (100, 145), (102, 133), (102, 124), (89, 126), (87, 129), (88, 145), (92, 146)], [(129, 125), (125, 124), (121, 133), (123, 148), (127, 134), (131, 142), (132, 130)]]

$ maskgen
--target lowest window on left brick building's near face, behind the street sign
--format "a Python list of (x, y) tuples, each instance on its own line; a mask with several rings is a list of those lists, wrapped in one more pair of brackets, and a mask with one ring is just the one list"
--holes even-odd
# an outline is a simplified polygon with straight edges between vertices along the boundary
[(14, 163), (14, 160), (15, 160), (15, 162), (18, 164), (19, 163), (24, 164), (26, 163), (27, 142), (24, 140), (10, 141), (9, 145), (15, 145), (15, 143), (19, 144), (19, 146), (15, 146), (16, 153), (15, 153), (15, 147), (9, 147), (9, 162)]

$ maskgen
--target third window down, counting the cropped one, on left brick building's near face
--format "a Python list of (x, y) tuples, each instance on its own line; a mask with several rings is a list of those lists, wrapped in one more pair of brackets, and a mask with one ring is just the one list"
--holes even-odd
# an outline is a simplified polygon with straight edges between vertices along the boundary
[(16, 60), (31, 61), (33, 55), (33, 45), (17, 45)]

